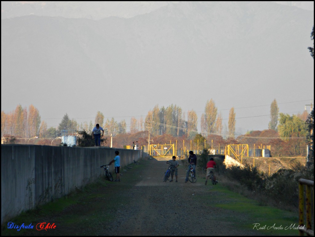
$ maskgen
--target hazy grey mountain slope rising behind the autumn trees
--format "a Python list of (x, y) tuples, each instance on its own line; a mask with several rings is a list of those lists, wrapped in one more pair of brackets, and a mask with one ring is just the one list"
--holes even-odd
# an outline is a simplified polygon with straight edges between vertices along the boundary
[(269, 104), (279, 94), (313, 98), (313, 22), (313, 11), (272, 2), (180, 2), (129, 19), (2, 19), (1, 98), (14, 95), (5, 104), (12, 109), (37, 101), (40, 113), (60, 113), (50, 118), (74, 101), (93, 117), (95, 92), (117, 116), (135, 114), (130, 100), (146, 115), (157, 103), (186, 112), (211, 98), (219, 109)]

